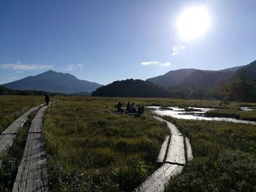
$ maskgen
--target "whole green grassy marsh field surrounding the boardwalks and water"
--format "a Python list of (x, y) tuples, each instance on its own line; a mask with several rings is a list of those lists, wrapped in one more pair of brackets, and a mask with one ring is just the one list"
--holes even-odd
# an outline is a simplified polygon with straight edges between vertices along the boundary
[[(124, 99), (59, 97), (44, 118), (50, 191), (133, 191), (161, 164), (156, 163), (168, 130), (146, 110), (141, 118), (107, 113), (118, 101), (163, 107), (211, 107), (216, 115), (239, 115), (254, 120), (256, 112), (242, 112), (253, 103), (179, 99)], [(41, 104), (42, 96), (1, 96), (1, 130), (29, 108)], [(5, 114), (5, 115), (3, 115)], [(214, 116), (214, 114), (211, 114)], [(12, 118), (10, 118), (10, 117)], [(189, 137), (194, 160), (173, 177), (166, 191), (255, 191), (256, 126), (202, 120), (176, 120)], [(27, 129), (18, 134), (15, 145), (1, 164), (1, 191), (11, 191)], [(15, 163), (12, 164), (12, 160)], [(10, 174), (8, 174), (10, 172)], [(8, 176), (7, 176), (8, 175)], [(8, 179), (10, 178), (10, 179)], [(9, 182), (10, 180), (10, 182)]]

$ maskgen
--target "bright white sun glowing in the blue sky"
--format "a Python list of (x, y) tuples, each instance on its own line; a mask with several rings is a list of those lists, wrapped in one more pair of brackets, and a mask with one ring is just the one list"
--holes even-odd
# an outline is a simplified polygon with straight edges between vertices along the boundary
[(194, 40), (208, 29), (210, 18), (205, 7), (191, 7), (178, 16), (178, 34), (182, 39)]

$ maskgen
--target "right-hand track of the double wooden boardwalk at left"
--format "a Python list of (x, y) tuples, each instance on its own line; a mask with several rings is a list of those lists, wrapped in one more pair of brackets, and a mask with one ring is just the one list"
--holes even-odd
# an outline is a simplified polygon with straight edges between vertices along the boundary
[(47, 106), (42, 107), (32, 120), (13, 192), (48, 191), (46, 156), (42, 141), (42, 117), (46, 109)]

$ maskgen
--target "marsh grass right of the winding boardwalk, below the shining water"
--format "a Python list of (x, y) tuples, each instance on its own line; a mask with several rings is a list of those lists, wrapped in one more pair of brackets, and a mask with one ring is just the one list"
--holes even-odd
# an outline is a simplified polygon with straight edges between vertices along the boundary
[(165, 117), (187, 135), (195, 159), (166, 191), (255, 191), (256, 126)]

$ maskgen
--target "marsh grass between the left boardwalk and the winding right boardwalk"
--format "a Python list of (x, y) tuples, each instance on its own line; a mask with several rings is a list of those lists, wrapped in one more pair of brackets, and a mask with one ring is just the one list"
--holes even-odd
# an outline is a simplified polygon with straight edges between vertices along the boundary
[[(158, 168), (166, 126), (148, 112), (142, 118), (105, 112), (119, 100), (64, 98), (48, 109), (50, 191), (133, 191)], [(131, 101), (138, 106), (143, 100)]]

